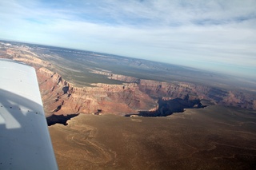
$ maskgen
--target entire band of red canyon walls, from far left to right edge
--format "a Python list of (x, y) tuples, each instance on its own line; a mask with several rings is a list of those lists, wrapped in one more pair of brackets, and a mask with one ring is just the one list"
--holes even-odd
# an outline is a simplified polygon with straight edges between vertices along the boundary
[[(6, 50), (6, 57), (33, 65), (37, 71), (38, 84), (42, 93), (46, 117), (74, 113), (136, 114), (158, 109), (158, 100), (170, 101), (175, 98), (206, 100), (213, 105), (232, 105), (246, 109), (256, 109), (256, 96), (234, 90), (217, 89), (207, 85), (173, 81), (162, 82), (138, 79), (91, 70), (112, 80), (124, 81), (122, 85), (92, 84), (78, 88), (64, 80), (61, 75), (50, 71), (49, 61), (40, 59), (35, 53), (24, 49)], [(187, 98), (188, 97), (188, 98)], [(168, 102), (167, 102), (168, 103)]]

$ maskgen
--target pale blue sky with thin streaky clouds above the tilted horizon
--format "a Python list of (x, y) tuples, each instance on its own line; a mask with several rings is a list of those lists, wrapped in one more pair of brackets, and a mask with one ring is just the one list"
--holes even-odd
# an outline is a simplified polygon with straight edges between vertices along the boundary
[(186, 65), (256, 81), (256, 0), (8, 0), (0, 39)]

